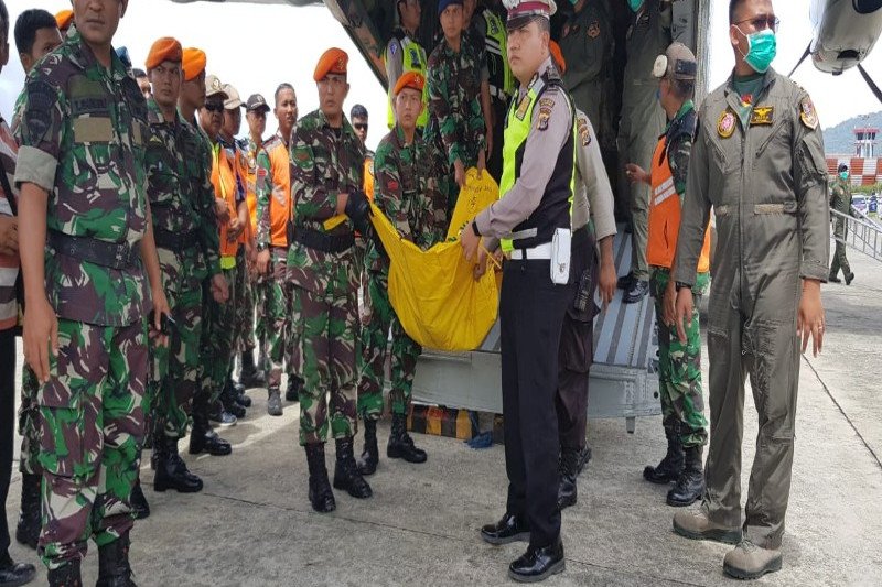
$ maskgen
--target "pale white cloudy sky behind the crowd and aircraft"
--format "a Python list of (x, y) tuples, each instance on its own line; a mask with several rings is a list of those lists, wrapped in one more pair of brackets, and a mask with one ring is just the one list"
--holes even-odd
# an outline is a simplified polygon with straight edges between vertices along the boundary
[[(12, 22), (28, 8), (42, 7), (54, 13), (69, 7), (67, 0), (6, 0), (6, 3)], [(774, 66), (781, 72), (788, 73), (793, 68), (811, 37), (808, 4), (808, 0), (775, 2), (782, 25)], [(717, 86), (729, 75), (733, 57), (728, 41), (727, 2), (718, 0), (713, 6), (710, 58), (711, 85)], [(348, 35), (324, 7), (130, 0), (116, 44), (126, 45), (138, 66), (143, 63), (152, 42), (160, 36), (174, 36), (184, 46), (203, 48), (208, 55), (208, 73), (236, 86), (243, 98), (258, 91), (271, 101), (279, 83), (291, 83), (297, 88), (301, 116), (318, 106), (312, 70), (319, 55), (330, 46), (338, 46), (352, 57), (352, 89), (346, 109), (362, 102), (370, 111), (373, 124), (368, 144), (376, 145), (386, 132), (383, 88)], [(10, 63), (0, 76), (0, 111), (7, 117), (24, 77), (11, 39), (10, 44), (13, 45)], [(882, 48), (876, 46), (864, 61), (864, 66), (875, 75), (876, 83), (882, 84)], [(794, 79), (811, 95), (824, 127), (835, 126), (859, 113), (882, 110), (882, 105), (864, 86), (856, 69), (833, 78), (817, 72), (807, 59)], [(270, 118), (268, 127), (272, 126)]]

